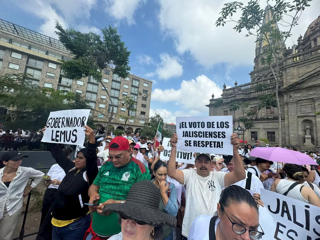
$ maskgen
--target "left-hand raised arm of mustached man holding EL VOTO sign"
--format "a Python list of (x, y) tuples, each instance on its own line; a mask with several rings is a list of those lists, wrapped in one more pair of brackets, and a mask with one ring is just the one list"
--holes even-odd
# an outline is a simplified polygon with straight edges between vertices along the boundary
[(178, 135), (177, 133), (173, 133), (172, 138), (170, 139), (171, 153), (168, 162), (168, 176), (177, 180), (180, 184), (184, 184), (183, 172), (181, 170), (176, 169), (177, 142)]

